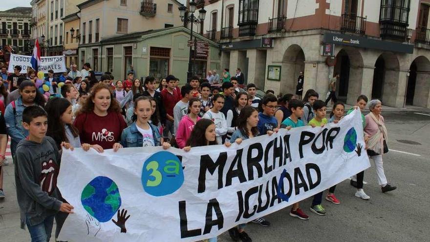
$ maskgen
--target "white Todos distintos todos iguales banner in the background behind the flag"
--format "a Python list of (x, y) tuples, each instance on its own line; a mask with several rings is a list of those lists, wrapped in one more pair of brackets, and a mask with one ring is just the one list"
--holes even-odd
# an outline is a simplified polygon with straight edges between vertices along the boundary
[[(14, 66), (21, 66), (21, 73), (27, 73), (27, 66), (31, 67), (31, 56), (10, 54), (9, 69), (7, 72), (13, 73)], [(65, 67), (64, 55), (41, 57), (41, 66), (38, 71), (48, 73), (48, 70), (53, 70), (54, 73), (67, 71)]]

